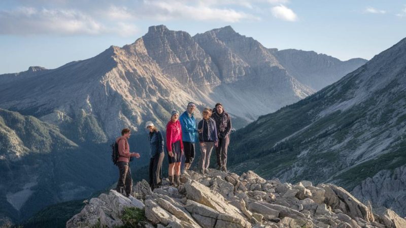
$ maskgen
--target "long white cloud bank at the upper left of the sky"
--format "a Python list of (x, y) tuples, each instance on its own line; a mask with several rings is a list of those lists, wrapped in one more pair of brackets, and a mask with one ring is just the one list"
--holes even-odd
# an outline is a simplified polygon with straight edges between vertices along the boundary
[(0, 11), (0, 34), (99, 34), (106, 28), (75, 10), (18, 8)]

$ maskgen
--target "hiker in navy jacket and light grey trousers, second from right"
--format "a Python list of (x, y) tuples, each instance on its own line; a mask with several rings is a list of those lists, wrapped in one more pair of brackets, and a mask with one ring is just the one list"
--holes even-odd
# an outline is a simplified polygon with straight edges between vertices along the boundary
[(201, 153), (199, 170), (202, 174), (208, 172), (212, 149), (218, 145), (216, 122), (210, 118), (211, 115), (212, 111), (210, 108), (203, 109), (203, 120), (201, 120), (197, 126)]

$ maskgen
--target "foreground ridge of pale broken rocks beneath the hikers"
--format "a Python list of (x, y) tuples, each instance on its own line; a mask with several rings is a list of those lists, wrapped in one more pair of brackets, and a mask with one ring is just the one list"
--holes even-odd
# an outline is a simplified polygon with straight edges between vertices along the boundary
[(120, 226), (124, 207), (145, 210), (140, 227), (406, 227), (393, 211), (376, 214), (333, 184), (282, 183), (252, 171), (238, 176), (212, 169), (206, 175), (188, 171), (181, 181), (174, 187), (166, 180), (151, 192), (143, 180), (129, 198), (111, 190), (91, 199), (66, 227)]

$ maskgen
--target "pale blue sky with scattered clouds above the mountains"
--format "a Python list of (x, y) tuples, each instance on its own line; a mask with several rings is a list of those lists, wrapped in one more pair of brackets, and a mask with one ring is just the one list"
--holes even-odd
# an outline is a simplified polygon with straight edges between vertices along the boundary
[(160, 24), (191, 35), (231, 25), (266, 48), (369, 60), (406, 37), (406, 1), (2, 0), (0, 74), (91, 58)]

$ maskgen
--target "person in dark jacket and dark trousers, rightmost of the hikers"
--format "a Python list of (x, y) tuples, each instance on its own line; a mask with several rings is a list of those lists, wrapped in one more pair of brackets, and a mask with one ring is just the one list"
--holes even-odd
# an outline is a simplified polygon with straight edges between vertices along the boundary
[(227, 171), (227, 149), (230, 143), (231, 118), (221, 103), (217, 103), (216, 107), (213, 108), (212, 117), (216, 121), (219, 138), (218, 145), (216, 146), (217, 169)]

